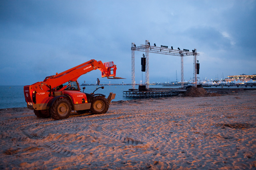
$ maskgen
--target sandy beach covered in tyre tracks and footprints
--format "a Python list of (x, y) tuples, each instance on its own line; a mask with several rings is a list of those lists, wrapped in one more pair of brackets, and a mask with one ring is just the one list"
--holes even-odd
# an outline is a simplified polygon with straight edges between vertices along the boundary
[(0, 115), (1, 169), (256, 169), (256, 91), (118, 101), (58, 121)]

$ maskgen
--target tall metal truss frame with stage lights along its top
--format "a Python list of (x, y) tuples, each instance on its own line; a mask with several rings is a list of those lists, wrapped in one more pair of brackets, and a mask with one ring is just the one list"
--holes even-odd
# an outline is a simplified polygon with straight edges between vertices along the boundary
[(150, 45), (149, 41), (145, 41), (145, 45), (140, 45), (136, 47), (135, 43), (132, 43), (132, 89), (135, 89), (135, 68), (134, 68), (134, 51), (143, 51), (146, 55), (146, 89), (149, 89), (149, 54), (148, 53), (158, 53), (164, 55), (174, 55), (180, 56), (181, 60), (181, 83), (182, 87), (184, 87), (184, 71), (183, 71), (183, 57), (184, 56), (194, 56), (194, 73), (193, 73), (193, 84), (197, 86), (197, 74), (196, 74), (196, 61), (199, 53), (196, 53), (196, 49), (192, 50), (192, 52), (183, 49), (169, 49), (168, 46), (156, 47)]

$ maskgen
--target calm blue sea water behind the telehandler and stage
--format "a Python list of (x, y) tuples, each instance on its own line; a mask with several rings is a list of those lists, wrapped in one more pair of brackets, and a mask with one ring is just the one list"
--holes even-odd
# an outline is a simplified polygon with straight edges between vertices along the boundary
[[(5, 108), (12, 108), (12, 107), (27, 107), (27, 103), (25, 101), (24, 86), (0, 86), (0, 109)], [(101, 86), (81, 86), (85, 87), (85, 93), (92, 93), (96, 90), (97, 87)], [(154, 88), (163, 88), (163, 86), (149, 86)], [(94, 94), (104, 94), (106, 98), (108, 97), (110, 92), (116, 94), (116, 97), (112, 101), (119, 101), (119, 100), (132, 100), (134, 98), (126, 98), (123, 97), (123, 91), (128, 91), (131, 89), (131, 85), (104, 85), (104, 89), (98, 89)], [(135, 86), (138, 89), (138, 85)], [(168, 87), (164, 87), (168, 88)], [(171, 87), (170, 87), (171, 88)], [(81, 92), (83, 89), (81, 90)]]

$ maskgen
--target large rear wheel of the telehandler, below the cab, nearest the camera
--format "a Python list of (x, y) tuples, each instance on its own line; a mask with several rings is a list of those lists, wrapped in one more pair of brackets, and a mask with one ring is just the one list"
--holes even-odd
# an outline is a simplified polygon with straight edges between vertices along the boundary
[(50, 107), (50, 114), (55, 120), (66, 119), (71, 113), (71, 105), (68, 100), (58, 98), (55, 100), (52, 107)]

